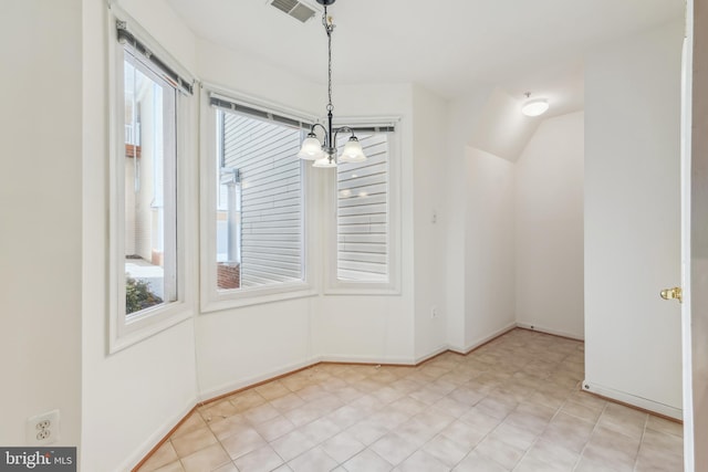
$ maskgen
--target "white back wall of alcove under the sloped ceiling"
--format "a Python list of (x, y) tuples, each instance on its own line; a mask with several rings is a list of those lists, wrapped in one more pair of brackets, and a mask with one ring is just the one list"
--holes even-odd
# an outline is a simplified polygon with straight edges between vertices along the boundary
[(583, 113), (544, 119), (517, 161), (516, 315), (583, 338)]

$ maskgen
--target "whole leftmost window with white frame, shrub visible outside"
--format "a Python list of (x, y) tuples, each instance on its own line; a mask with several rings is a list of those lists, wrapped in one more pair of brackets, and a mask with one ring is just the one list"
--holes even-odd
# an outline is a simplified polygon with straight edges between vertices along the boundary
[[(185, 310), (179, 211), (181, 129), (191, 94), (183, 78), (116, 22), (111, 153), (111, 350), (180, 319)], [(164, 57), (164, 55), (163, 55)]]

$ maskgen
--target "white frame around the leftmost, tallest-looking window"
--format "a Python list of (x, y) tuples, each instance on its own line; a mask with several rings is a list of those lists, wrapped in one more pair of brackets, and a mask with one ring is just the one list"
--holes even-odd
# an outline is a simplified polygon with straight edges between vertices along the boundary
[[(189, 160), (186, 156), (189, 154), (189, 149), (194, 148), (194, 137), (189, 133), (190, 128), (194, 129), (194, 97), (186, 95), (174, 85), (176, 175), (173, 185), (176, 187), (175, 238), (177, 251), (175, 263), (177, 268), (175, 275), (177, 297), (173, 302), (136, 312), (131, 316), (125, 313), (125, 92), (123, 81), (126, 46), (118, 41), (116, 22), (129, 23), (128, 31), (139, 38), (142, 43), (148, 45), (150, 51), (159, 54), (163, 61), (168, 62), (168, 66), (180, 71), (180, 75), (188, 77), (188, 80), (192, 80), (192, 76), (134, 20), (125, 13), (118, 14), (122, 18), (113, 12), (108, 14), (108, 354), (115, 354), (181, 323), (190, 318), (194, 313), (191, 292), (186, 277), (186, 274), (189, 273), (189, 258), (185, 255), (185, 249), (191, 245), (186, 231), (186, 220), (194, 219), (194, 213), (187, 204), (190, 185), (187, 178), (189, 171), (186, 167)], [(136, 61), (144, 62), (144, 65), (152, 71), (155, 70), (147, 61), (143, 61), (139, 53), (136, 54)], [(167, 82), (170, 81), (167, 80)]]

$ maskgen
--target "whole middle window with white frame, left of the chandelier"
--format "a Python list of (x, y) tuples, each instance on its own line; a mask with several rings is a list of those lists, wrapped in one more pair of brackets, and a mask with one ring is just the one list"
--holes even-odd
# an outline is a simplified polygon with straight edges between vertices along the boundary
[(305, 276), (302, 122), (208, 95), (202, 310), (299, 296)]

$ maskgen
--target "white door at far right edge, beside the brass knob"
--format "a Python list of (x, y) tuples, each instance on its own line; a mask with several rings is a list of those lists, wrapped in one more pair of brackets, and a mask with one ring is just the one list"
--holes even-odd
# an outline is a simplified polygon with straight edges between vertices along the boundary
[(684, 455), (708, 471), (708, 0), (687, 0), (681, 119)]

